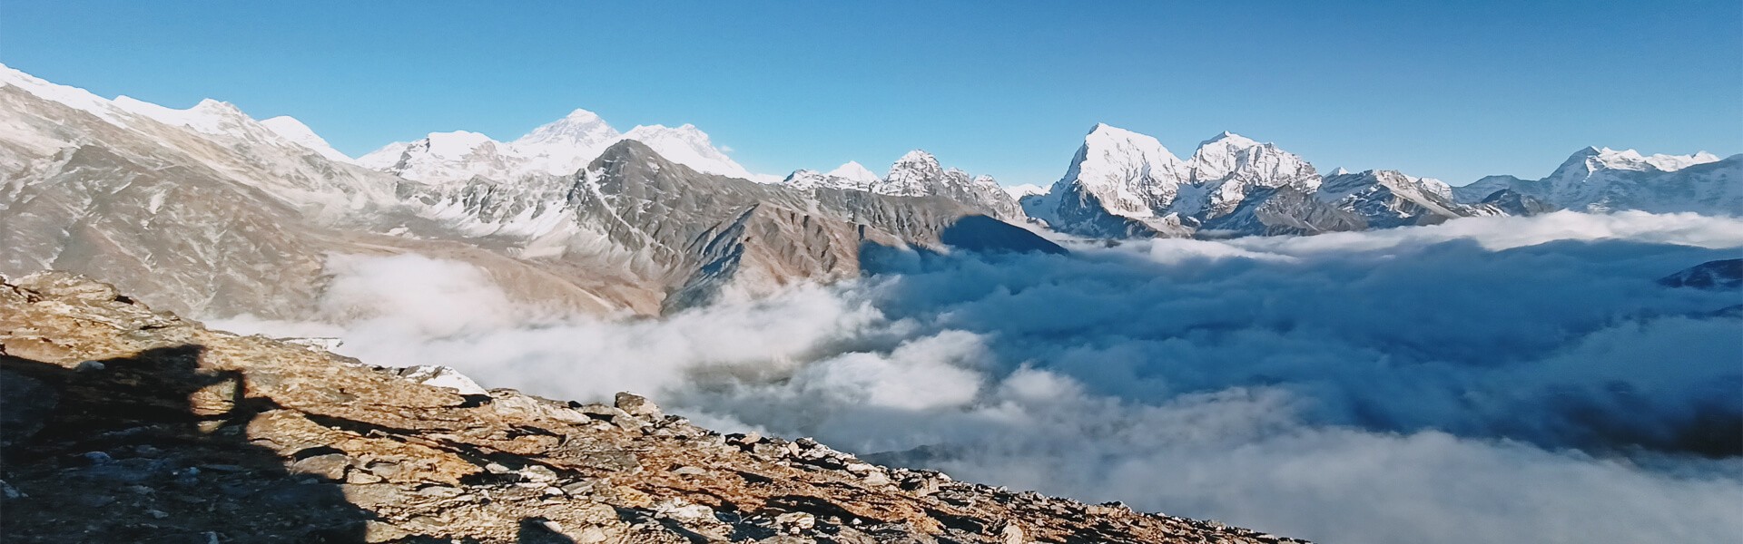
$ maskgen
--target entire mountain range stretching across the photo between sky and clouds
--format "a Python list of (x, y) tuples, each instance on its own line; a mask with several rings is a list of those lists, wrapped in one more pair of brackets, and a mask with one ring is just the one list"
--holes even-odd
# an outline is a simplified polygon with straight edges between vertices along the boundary
[(429, 255), (525, 302), (661, 314), (856, 277), (891, 251), (1063, 251), (1049, 230), (1318, 234), (1553, 207), (1734, 214), (1740, 173), (1743, 155), (1593, 148), (1544, 180), (1454, 188), (1319, 173), (1231, 133), (1182, 160), (1098, 124), (1048, 188), (1006, 188), (924, 150), (882, 176), (849, 162), (777, 178), (694, 126), (619, 133), (586, 110), (514, 141), (432, 133), (352, 159), (291, 117), (105, 99), (0, 66), (0, 274), (91, 274), (192, 316), (303, 316), (333, 255)]

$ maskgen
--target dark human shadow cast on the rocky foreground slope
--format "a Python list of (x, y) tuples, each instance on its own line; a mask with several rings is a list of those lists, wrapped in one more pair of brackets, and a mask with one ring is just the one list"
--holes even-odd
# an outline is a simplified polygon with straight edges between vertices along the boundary
[[(5, 542), (363, 542), (371, 513), (286, 471), (246, 427), (275, 410), (178, 345), (77, 368), (7, 356)], [(14, 420), (12, 413), (24, 418)]]

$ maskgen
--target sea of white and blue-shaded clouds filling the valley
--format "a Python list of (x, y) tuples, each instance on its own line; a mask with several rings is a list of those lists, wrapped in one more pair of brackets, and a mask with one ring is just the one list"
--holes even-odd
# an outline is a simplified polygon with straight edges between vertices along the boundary
[[(636, 391), (959, 479), (1330, 542), (1743, 535), (1743, 220), (1469, 218), (1314, 237), (945, 256), (662, 319), (521, 307), (483, 272), (335, 256), (321, 323), (373, 364)], [(1729, 450), (1727, 450), (1729, 448)]]

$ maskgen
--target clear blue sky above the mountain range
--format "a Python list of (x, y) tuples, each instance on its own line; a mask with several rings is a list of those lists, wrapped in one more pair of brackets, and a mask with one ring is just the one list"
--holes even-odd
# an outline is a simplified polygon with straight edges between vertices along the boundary
[(1738, 0), (505, 5), (5, 0), (0, 61), (293, 115), (352, 155), (572, 108), (692, 122), (760, 173), (926, 148), (1007, 185), (1056, 180), (1095, 122), (1454, 185), (1586, 145), (1743, 152)]

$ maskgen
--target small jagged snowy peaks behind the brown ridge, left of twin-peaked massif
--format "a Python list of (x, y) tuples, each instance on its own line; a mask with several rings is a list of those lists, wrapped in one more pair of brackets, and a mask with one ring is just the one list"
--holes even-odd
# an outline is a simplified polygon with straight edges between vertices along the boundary
[(889, 167), (889, 174), (882, 178), (859, 166), (859, 162), (847, 162), (828, 173), (793, 171), (781, 185), (800, 190), (863, 190), (894, 197), (936, 195), (1004, 221), (1021, 223), (1028, 218), (1023, 214), (1023, 207), (1016, 204), (1016, 197), (992, 176), (969, 176), (960, 169), (946, 169), (938, 162), (938, 157), (920, 150), (896, 159)]

